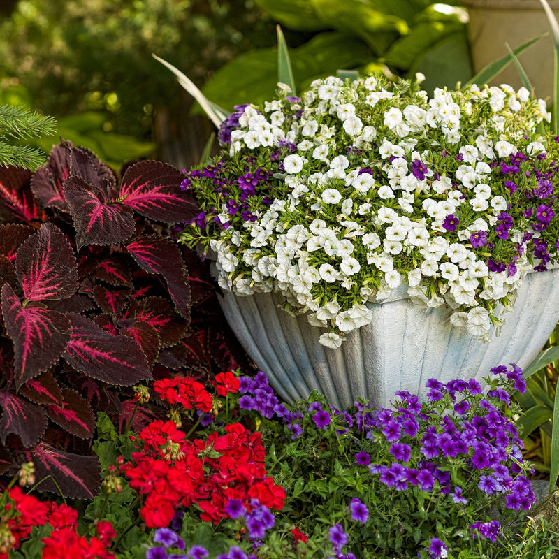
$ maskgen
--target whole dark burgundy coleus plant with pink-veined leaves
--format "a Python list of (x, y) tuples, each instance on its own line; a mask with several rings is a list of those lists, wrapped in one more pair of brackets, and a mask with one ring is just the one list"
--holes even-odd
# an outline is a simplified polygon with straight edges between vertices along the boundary
[(122, 426), (134, 402), (122, 387), (208, 376), (212, 344), (236, 364), (226, 335), (189, 328), (212, 285), (166, 234), (196, 215), (181, 171), (140, 161), (120, 176), (64, 141), (34, 174), (0, 168), (0, 474), (32, 460), (38, 488), (69, 497), (99, 487), (94, 412)]

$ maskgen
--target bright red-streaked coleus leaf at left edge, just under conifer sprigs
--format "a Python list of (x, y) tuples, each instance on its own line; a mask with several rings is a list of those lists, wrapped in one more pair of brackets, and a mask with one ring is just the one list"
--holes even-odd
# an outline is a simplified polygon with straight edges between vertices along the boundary
[(0, 166), (0, 219), (4, 222), (30, 223), (42, 220), (43, 213), (36, 205), (29, 189), (31, 172), (18, 167)]

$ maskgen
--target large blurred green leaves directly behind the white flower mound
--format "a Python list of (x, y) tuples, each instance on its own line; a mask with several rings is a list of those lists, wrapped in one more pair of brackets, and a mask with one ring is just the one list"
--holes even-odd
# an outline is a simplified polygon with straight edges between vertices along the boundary
[[(290, 49), (297, 90), (340, 69), (406, 77), (433, 70), (428, 87), (453, 87), (472, 75), (463, 13), (450, 6), (438, 10), (428, 0), (256, 3), (291, 30), (289, 38), (298, 38), (303, 32), (314, 34), (310, 41)], [(270, 98), (278, 75), (274, 52), (273, 48), (256, 49), (235, 58), (215, 73), (203, 93), (228, 109)], [(443, 63), (437, 65), (441, 52)]]

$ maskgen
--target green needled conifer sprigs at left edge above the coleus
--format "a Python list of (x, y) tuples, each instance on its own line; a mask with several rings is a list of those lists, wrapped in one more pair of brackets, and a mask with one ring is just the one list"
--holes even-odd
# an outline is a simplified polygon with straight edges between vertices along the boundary
[(43, 164), (43, 152), (29, 145), (14, 145), (14, 140), (48, 136), (55, 132), (54, 119), (31, 112), (23, 107), (0, 105), (0, 165), (35, 170)]

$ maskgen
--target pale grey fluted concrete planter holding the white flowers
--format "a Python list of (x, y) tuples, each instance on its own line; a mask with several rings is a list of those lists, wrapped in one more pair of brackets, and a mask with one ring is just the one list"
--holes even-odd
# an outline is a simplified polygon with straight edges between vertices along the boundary
[(319, 344), (321, 330), (281, 310), (277, 294), (238, 297), (226, 291), (219, 302), (245, 351), (284, 400), (317, 389), (342, 409), (358, 396), (387, 405), (398, 390), (421, 394), (432, 377), (481, 381), (495, 365), (525, 367), (559, 319), (558, 280), (559, 268), (526, 275), (501, 335), (488, 343), (451, 326), (449, 310), (415, 305), (405, 293), (368, 303), (372, 323), (349, 333), (339, 349)]

